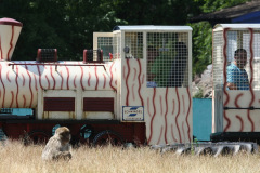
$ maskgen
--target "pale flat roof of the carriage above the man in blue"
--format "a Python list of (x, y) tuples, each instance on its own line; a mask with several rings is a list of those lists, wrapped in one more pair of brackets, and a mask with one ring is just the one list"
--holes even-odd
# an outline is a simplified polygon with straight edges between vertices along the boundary
[(222, 30), (224, 28), (231, 28), (231, 29), (260, 29), (260, 24), (217, 24), (213, 27), (213, 30)]

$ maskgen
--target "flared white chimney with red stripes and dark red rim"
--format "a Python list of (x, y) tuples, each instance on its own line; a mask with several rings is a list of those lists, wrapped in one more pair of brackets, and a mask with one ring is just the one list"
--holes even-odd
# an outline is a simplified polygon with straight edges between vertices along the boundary
[(13, 18), (0, 18), (0, 61), (11, 61), (23, 24)]

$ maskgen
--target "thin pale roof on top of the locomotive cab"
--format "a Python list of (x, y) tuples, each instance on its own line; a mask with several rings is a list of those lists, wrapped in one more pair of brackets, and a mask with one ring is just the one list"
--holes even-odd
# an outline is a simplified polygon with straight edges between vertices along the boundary
[(190, 26), (156, 26), (156, 25), (131, 25), (131, 26), (115, 26), (114, 30), (123, 31), (191, 31), (193, 30)]

